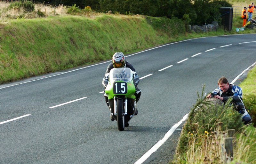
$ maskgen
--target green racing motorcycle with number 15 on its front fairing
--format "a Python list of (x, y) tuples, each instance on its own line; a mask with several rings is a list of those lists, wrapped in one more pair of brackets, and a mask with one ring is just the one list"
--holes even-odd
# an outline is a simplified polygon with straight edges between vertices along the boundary
[(111, 115), (117, 121), (117, 128), (123, 131), (136, 112), (134, 74), (130, 68), (113, 68), (108, 75), (105, 93), (108, 95)]

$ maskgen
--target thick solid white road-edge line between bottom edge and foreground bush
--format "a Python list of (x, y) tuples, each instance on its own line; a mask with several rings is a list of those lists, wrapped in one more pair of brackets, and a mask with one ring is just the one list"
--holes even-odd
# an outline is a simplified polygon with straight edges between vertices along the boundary
[(145, 160), (148, 159), (148, 157), (154, 153), (160, 146), (164, 144), (164, 142), (172, 135), (172, 133), (175, 131), (177, 127), (180, 126), (181, 123), (183, 123), (188, 118), (188, 114), (186, 114), (178, 123), (174, 124), (172, 128), (164, 135), (164, 138), (161, 139), (154, 145), (151, 149), (148, 150), (147, 153), (145, 153), (142, 157), (140, 157), (139, 160), (137, 160), (134, 164), (141, 164)]

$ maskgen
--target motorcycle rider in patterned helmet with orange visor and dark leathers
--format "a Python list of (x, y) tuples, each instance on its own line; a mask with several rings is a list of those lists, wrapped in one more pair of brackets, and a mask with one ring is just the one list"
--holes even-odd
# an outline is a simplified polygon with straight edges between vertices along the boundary
[[(140, 82), (140, 78), (139, 76), (137, 75), (136, 71), (135, 71), (135, 68), (132, 66), (131, 63), (129, 63), (128, 61), (125, 61), (125, 56), (124, 56), (124, 53), (122, 52), (116, 52), (113, 57), (112, 57), (112, 63), (110, 63), (108, 65), (108, 68), (106, 70), (106, 74), (102, 80), (102, 84), (104, 86), (104, 88), (106, 89), (107, 85), (108, 85), (108, 74), (110, 72), (111, 69), (113, 68), (122, 68), (122, 67), (127, 67), (127, 68), (130, 68), (132, 70), (132, 73), (134, 75), (134, 78), (133, 78), (133, 84), (134, 84), (134, 87), (136, 89), (135, 91), (135, 96), (136, 96), (136, 101), (138, 102), (140, 100), (140, 94), (141, 94), (141, 90), (137, 87), (139, 82)], [(108, 104), (108, 96), (106, 94), (104, 94), (104, 97), (105, 97), (105, 101), (109, 107), (109, 104)], [(138, 114), (138, 110), (136, 108), (136, 112), (134, 115), (137, 115)], [(114, 117), (110, 114), (110, 119), (112, 121), (114, 121)]]

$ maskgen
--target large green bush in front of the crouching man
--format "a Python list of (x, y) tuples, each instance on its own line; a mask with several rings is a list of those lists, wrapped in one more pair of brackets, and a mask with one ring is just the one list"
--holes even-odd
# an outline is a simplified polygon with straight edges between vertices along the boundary
[(226, 105), (223, 105), (222, 101), (217, 98), (205, 100), (203, 92), (201, 97), (198, 95), (197, 102), (191, 108), (188, 119), (183, 125), (176, 155), (179, 156), (187, 151), (188, 133), (203, 134), (204, 131), (213, 132), (217, 128), (221, 128), (220, 131), (226, 129), (238, 131), (244, 124), (240, 113), (234, 111), (233, 106), (229, 105), (230, 103), (231, 99), (226, 102)]

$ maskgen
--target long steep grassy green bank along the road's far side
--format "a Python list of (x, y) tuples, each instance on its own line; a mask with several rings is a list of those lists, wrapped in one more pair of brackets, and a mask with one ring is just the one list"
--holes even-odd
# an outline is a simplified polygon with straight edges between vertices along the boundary
[(116, 51), (139, 51), (182, 33), (181, 20), (142, 16), (9, 20), (0, 28), (0, 83), (103, 61)]

